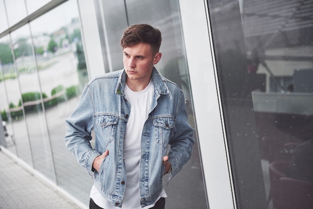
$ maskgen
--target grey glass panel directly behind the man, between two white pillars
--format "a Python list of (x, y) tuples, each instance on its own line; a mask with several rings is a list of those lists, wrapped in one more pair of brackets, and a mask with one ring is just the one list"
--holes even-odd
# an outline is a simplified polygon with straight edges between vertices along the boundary
[[(102, 4), (101, 1), (96, 2), (98, 4), (96, 7), (101, 8), (98, 11), (98, 18), (100, 18), (98, 21), (103, 26), (100, 36), (105, 37), (102, 38), (103, 40), (108, 40), (103, 45), (110, 44), (110, 47), (104, 49), (110, 54), (108, 62), (112, 63), (113, 70), (123, 68), (119, 39), (127, 23), (129, 25), (149, 23), (159, 28), (162, 32), (160, 48), (162, 58), (155, 67), (161, 74), (176, 82), (183, 89), (187, 98), (190, 124), (195, 129), (178, 3), (168, 0), (160, 0), (157, 3), (153, 0), (129, 0), (125, 2), (125, 5), (116, 1), (105, 4)], [(116, 25), (119, 26), (116, 28)], [(187, 162), (181, 172), (171, 179), (168, 186), (166, 186), (166, 182), (167, 179), (164, 179), (163, 187), (167, 195), (172, 197), (166, 199), (166, 207), (208, 208), (197, 139), (191, 160)]]

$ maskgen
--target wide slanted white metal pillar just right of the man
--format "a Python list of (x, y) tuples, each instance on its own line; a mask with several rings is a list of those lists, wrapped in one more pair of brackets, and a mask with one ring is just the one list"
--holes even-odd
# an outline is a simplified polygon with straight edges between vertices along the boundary
[(179, 6), (209, 208), (236, 208), (207, 3)]

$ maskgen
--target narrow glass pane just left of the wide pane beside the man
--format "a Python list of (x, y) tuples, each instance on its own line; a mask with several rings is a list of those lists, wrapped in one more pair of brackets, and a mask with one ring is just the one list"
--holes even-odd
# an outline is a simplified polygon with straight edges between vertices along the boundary
[(12, 32), (12, 43), (22, 95), (19, 104), (23, 105), (25, 112), (34, 168), (54, 180), (52, 156), (41, 102), (47, 95), (40, 91), (28, 24)]

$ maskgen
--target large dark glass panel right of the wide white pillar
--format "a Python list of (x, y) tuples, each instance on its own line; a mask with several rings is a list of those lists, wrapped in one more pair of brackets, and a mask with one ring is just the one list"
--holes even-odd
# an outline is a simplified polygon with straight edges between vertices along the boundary
[(208, 6), (238, 208), (310, 208), (312, 2)]

